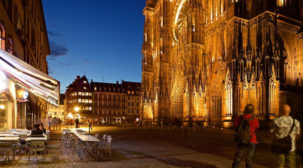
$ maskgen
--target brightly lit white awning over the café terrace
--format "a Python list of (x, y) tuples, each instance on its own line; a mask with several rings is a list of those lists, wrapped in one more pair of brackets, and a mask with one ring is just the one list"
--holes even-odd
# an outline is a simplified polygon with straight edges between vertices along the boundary
[(60, 82), (0, 49), (0, 70), (15, 84), (58, 107)]

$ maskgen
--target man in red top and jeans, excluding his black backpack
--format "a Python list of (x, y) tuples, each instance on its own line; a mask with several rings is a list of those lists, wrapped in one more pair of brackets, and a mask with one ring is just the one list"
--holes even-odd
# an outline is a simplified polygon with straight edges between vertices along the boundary
[[(252, 117), (251, 114), (253, 114), (253, 112), (254, 112), (254, 106), (252, 104), (247, 104), (244, 109), (243, 118), (245, 120), (251, 118)], [(237, 116), (235, 118), (236, 127), (238, 127), (240, 122), (241, 122), (241, 118), (240, 116)], [(245, 151), (246, 151), (246, 168), (252, 167), (252, 161), (254, 159), (255, 149), (257, 147), (257, 138), (255, 131), (256, 129), (259, 128), (259, 121), (254, 118), (250, 120), (248, 123), (250, 128), (251, 139), (247, 145), (238, 143), (235, 160), (232, 163), (232, 168), (238, 168), (242, 160), (242, 157), (245, 154)]]

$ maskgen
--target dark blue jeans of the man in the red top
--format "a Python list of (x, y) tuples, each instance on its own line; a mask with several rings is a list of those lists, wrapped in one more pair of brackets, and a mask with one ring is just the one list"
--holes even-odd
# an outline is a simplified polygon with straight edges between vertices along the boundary
[(248, 145), (238, 144), (235, 160), (232, 163), (232, 168), (238, 168), (243, 155), (246, 151), (246, 168), (252, 168), (252, 161), (255, 157), (255, 149), (257, 147), (257, 144), (249, 142)]

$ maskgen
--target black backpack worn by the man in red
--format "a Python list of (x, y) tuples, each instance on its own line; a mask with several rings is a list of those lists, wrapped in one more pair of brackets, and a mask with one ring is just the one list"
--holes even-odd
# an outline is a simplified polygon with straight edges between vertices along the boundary
[(254, 117), (250, 117), (248, 119), (244, 119), (243, 115), (240, 116), (241, 121), (236, 128), (235, 132), (235, 142), (238, 142), (240, 144), (248, 144), (252, 135), (254, 135), (254, 132), (250, 136), (250, 128), (249, 128), (249, 121), (254, 119)]

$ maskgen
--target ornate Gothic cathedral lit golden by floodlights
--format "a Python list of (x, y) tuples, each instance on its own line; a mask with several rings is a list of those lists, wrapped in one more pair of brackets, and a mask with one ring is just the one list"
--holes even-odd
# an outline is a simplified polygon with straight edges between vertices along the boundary
[[(303, 116), (303, 1), (146, 0), (142, 119), (234, 127), (247, 104)], [(301, 75), (302, 73), (302, 75)]]

